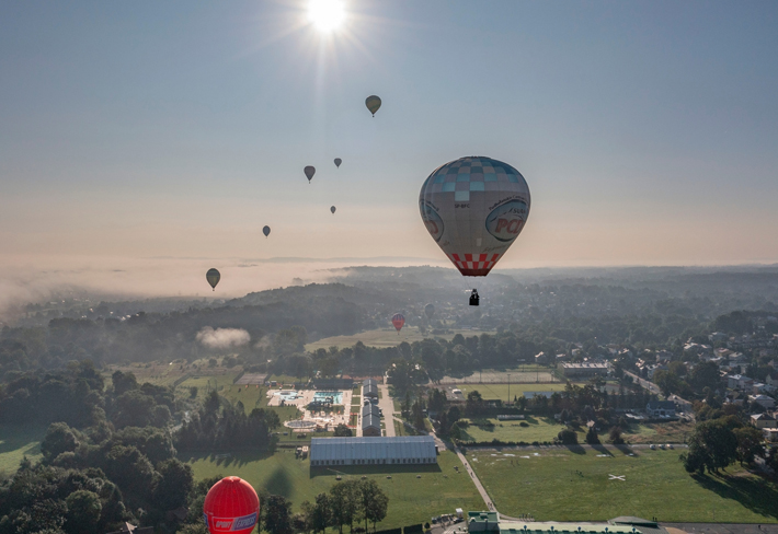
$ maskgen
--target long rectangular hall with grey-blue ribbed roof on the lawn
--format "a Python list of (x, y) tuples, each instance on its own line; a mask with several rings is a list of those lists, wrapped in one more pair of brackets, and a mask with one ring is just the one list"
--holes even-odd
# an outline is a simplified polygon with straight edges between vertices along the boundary
[(432, 436), (401, 438), (312, 438), (311, 466), (435, 464), (437, 451)]

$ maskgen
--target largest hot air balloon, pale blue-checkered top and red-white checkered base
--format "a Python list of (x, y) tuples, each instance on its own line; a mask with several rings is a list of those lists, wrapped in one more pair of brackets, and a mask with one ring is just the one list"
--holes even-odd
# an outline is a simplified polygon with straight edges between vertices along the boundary
[(529, 204), (524, 176), (507, 163), (482, 156), (437, 167), (419, 194), (430, 235), (464, 276), (492, 270), (524, 229)]

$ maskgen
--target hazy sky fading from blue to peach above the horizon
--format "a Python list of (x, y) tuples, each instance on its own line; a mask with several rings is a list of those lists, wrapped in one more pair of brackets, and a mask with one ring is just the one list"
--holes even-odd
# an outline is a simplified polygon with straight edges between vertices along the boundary
[(2, 264), (444, 265), (464, 155), (533, 194), (499, 267), (778, 262), (778, 2), (345, 4), (0, 2)]

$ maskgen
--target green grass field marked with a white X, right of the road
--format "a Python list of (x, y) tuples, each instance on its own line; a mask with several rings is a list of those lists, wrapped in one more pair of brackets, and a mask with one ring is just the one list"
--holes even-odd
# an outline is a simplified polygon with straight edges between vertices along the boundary
[(611, 448), (551, 448), (469, 452), (468, 458), (497, 510), (512, 516), (604, 521), (637, 515), (728, 523), (778, 519), (778, 487), (736, 464), (722, 476), (693, 477), (678, 462), (678, 450), (637, 449), (633, 454)]

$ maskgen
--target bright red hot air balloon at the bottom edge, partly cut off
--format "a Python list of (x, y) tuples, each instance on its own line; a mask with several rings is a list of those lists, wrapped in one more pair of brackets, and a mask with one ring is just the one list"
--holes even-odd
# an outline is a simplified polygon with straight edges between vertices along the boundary
[(249, 534), (260, 520), (260, 498), (249, 483), (228, 476), (208, 490), (203, 514), (210, 534)]

